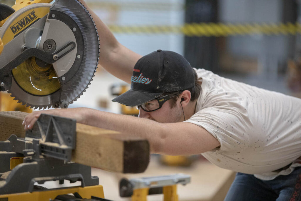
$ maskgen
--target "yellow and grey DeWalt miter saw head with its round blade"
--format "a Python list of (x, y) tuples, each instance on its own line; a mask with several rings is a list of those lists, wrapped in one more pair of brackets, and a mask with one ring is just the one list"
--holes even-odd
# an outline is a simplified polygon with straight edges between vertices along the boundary
[(77, 0), (0, 4), (0, 89), (22, 105), (67, 108), (96, 71), (95, 23)]

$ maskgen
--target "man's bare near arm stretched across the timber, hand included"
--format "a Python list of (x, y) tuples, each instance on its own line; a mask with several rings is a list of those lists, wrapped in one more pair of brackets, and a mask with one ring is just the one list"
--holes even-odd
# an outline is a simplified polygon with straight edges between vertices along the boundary
[(34, 111), (26, 116), (24, 125), (31, 129), (41, 113), (76, 119), (88, 124), (147, 139), (152, 153), (191, 155), (210, 151), (220, 146), (218, 140), (205, 129), (186, 122), (158, 123), (149, 119), (114, 114), (90, 108)]

